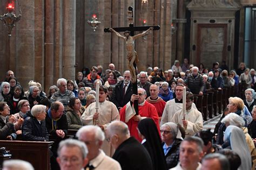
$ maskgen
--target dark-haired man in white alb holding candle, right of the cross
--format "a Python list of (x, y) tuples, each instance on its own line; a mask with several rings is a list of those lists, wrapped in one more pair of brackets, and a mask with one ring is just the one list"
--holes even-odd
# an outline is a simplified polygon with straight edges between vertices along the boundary
[(203, 116), (202, 113), (192, 107), (194, 96), (191, 92), (186, 92), (186, 111), (176, 112), (172, 117), (172, 122), (180, 124), (184, 127), (186, 135), (194, 135), (203, 130)]

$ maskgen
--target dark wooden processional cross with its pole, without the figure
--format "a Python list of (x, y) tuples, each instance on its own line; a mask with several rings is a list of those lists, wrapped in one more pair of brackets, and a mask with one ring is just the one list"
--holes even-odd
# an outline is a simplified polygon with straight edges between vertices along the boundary
[[(133, 25), (133, 8), (132, 6), (129, 6), (128, 8), (128, 19), (129, 19), (129, 27), (118, 27), (118, 28), (112, 28), (113, 30), (117, 31), (117, 32), (125, 32), (125, 31), (130, 31), (130, 35), (131, 36), (134, 36), (134, 31), (146, 31), (148, 30), (149, 28), (153, 28), (153, 30), (159, 30), (160, 29), (160, 26), (157, 25), (157, 26), (134, 26)], [(111, 32), (109, 30), (110, 28), (105, 28), (104, 29), (104, 32)], [(135, 71), (136, 71), (136, 75), (137, 75), (137, 66), (136, 66), (136, 63), (133, 62), (133, 66), (135, 68)], [(132, 90), (133, 90), (133, 94), (137, 94), (138, 95), (138, 85), (137, 85), (137, 79), (135, 81), (135, 83), (132, 84)], [(138, 100), (135, 100), (134, 101), (134, 110), (136, 111), (136, 115), (139, 114), (139, 108), (138, 108)]]

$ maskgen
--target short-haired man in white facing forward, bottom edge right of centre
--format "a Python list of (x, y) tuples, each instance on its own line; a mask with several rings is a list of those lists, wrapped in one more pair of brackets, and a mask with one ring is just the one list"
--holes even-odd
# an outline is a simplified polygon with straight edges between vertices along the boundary
[(179, 147), (179, 164), (171, 170), (199, 170), (204, 156), (204, 142), (198, 137), (186, 137)]

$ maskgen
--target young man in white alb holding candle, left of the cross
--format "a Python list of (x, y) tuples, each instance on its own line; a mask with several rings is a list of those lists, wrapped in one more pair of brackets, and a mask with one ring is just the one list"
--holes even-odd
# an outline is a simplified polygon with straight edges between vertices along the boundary
[[(120, 115), (116, 105), (114, 105), (111, 101), (106, 100), (107, 88), (105, 86), (99, 87), (98, 95), (98, 112), (96, 112), (96, 102), (94, 102), (86, 108), (83, 115), (81, 116), (81, 120), (83, 125), (96, 125), (102, 128), (102, 130), (105, 132), (107, 125), (110, 124), (111, 121), (120, 120)], [(106, 140), (103, 142), (102, 149), (106, 155), (112, 157), (114, 149)]]

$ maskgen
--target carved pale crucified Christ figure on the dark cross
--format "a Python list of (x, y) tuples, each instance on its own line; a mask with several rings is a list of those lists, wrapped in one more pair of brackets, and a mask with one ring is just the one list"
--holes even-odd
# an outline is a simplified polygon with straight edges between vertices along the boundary
[(123, 38), (125, 40), (126, 55), (127, 55), (127, 59), (129, 60), (128, 66), (132, 75), (132, 83), (135, 83), (137, 80), (137, 75), (136, 75), (136, 68), (133, 66), (133, 63), (135, 62), (137, 64), (139, 59), (138, 59), (137, 52), (135, 51), (135, 48), (134, 48), (134, 40), (139, 37), (145, 36), (147, 32), (153, 30), (153, 27), (150, 27), (148, 30), (142, 33), (139, 33), (135, 36), (131, 36), (130, 31), (125, 31), (124, 36), (122, 36), (120, 35), (120, 33), (118, 33), (112, 28), (110, 28), (109, 30), (110, 32), (116, 33), (118, 37)]

